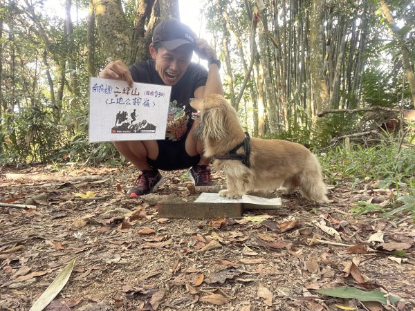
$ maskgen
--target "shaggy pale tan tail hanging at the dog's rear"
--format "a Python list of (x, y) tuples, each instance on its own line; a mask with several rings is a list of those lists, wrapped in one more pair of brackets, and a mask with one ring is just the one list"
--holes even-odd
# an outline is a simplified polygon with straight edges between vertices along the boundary
[(302, 195), (308, 200), (317, 203), (329, 202), (329, 199), (326, 197), (327, 187), (323, 182), (322, 169), (317, 157), (310, 153), (306, 162), (304, 171), (302, 171), (299, 178), (299, 188), (302, 191)]

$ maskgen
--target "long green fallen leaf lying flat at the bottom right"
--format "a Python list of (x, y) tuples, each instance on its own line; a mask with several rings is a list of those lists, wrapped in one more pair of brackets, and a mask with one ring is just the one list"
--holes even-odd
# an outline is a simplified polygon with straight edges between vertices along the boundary
[[(358, 299), (359, 301), (378, 301), (383, 305), (387, 304), (385, 294), (378, 291), (372, 290), (371, 292), (365, 292), (364, 290), (358, 290), (357, 288), (320, 288), (320, 290), (315, 290), (319, 294), (326, 296), (333, 296), (338, 298), (349, 298), (349, 299)], [(391, 303), (396, 303), (400, 301), (399, 296), (389, 295), (389, 300)]]

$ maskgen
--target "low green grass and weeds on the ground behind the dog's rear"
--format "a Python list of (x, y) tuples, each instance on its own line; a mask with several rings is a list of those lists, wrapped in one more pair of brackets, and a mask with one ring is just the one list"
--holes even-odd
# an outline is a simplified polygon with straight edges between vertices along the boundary
[[(322, 171), (332, 184), (338, 180), (378, 181), (382, 188), (394, 191), (396, 201), (385, 207), (371, 202), (358, 202), (356, 215), (378, 212), (385, 217), (411, 214), (415, 218), (415, 152), (413, 147), (400, 149), (398, 142), (375, 147), (360, 145), (346, 149), (338, 146), (320, 156)], [(354, 188), (354, 185), (353, 185)]]

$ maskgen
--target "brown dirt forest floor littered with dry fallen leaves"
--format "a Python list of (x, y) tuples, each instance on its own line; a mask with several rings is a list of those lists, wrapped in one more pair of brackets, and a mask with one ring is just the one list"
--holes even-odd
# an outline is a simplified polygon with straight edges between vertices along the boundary
[[(137, 173), (3, 167), (0, 310), (28, 310), (73, 258), (46, 310), (415, 310), (414, 221), (351, 209), (359, 200), (392, 199), (376, 182), (351, 191), (339, 180), (321, 207), (295, 194), (282, 196), (278, 209), (241, 218), (166, 219), (156, 201), (185, 202), (187, 172), (163, 172), (156, 194), (127, 198)], [(14, 206), (24, 204), (35, 207)], [(315, 292), (340, 287), (402, 300), (382, 306)]]

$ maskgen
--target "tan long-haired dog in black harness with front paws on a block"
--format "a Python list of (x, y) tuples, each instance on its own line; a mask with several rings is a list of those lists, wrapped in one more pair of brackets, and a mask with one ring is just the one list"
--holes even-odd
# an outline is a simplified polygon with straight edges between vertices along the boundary
[(204, 156), (215, 157), (215, 168), (225, 173), (228, 189), (219, 191), (220, 196), (241, 198), (248, 191), (275, 189), (291, 194), (299, 189), (308, 200), (328, 202), (320, 163), (302, 144), (249, 139), (221, 95), (192, 100), (191, 106), (201, 111), (195, 135), (203, 141)]

